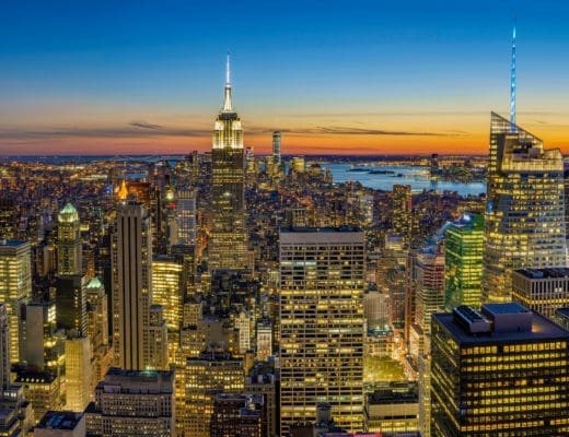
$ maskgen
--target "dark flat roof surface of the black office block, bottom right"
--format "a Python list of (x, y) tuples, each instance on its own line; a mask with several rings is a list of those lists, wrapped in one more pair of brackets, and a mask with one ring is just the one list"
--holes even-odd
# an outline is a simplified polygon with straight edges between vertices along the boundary
[(544, 340), (569, 341), (569, 331), (534, 311), (532, 311), (532, 330), (529, 332), (491, 332), (483, 335), (468, 332), (455, 321), (452, 312), (439, 312), (432, 317), (439, 321), (460, 344), (495, 344), (500, 342), (527, 343)]

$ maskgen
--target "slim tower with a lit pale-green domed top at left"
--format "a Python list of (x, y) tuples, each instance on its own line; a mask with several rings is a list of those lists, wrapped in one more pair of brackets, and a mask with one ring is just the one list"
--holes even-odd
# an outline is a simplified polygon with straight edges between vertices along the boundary
[(57, 215), (57, 273), (81, 274), (81, 223), (71, 203)]

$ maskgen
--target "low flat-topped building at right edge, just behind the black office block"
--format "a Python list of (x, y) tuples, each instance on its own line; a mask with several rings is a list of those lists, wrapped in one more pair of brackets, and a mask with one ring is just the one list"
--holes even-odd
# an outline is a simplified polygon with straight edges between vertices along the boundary
[(512, 300), (554, 318), (569, 307), (569, 269), (520, 269), (512, 274)]

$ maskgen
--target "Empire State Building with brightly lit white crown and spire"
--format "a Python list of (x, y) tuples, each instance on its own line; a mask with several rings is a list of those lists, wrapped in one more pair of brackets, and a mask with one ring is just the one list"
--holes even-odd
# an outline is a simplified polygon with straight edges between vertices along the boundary
[(243, 269), (247, 259), (245, 161), (241, 120), (231, 98), (229, 56), (223, 108), (213, 128), (211, 161), (209, 269)]

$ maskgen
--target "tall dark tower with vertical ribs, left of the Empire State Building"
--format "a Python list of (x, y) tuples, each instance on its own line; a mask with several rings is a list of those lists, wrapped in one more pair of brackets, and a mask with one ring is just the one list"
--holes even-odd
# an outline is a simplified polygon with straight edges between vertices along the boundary
[(113, 234), (113, 347), (115, 364), (142, 370), (149, 364), (151, 229), (147, 209), (133, 199), (117, 204)]

